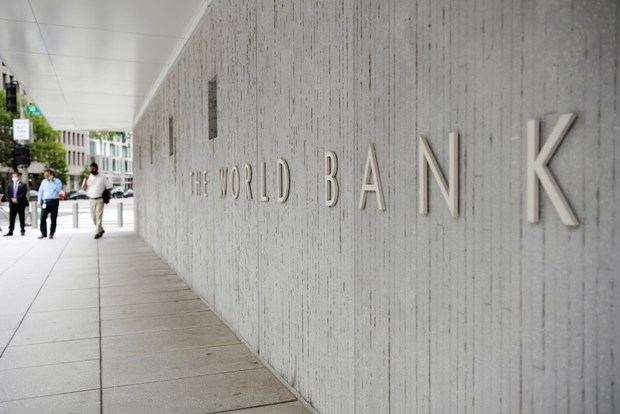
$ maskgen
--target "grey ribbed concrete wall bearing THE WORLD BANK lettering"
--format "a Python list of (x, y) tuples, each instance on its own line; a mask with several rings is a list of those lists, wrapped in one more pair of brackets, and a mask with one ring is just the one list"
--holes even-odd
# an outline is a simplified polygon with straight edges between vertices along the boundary
[[(139, 232), (322, 413), (617, 412), (619, 16), (614, 0), (214, 0), (135, 128)], [(578, 118), (551, 169), (580, 225), (544, 190), (529, 224), (526, 122), (544, 140), (563, 112)], [(432, 178), (419, 215), (416, 135), (447, 172), (452, 130), (460, 216)], [(371, 143), (384, 212), (372, 194), (357, 208)], [(218, 169), (245, 163), (254, 199), (220, 198)], [(207, 197), (190, 194), (202, 170)]]

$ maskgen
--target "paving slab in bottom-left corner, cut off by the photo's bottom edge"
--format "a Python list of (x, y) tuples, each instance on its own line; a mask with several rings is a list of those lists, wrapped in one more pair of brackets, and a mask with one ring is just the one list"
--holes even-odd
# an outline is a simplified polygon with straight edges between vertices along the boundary
[(0, 403), (0, 414), (98, 414), (99, 390)]

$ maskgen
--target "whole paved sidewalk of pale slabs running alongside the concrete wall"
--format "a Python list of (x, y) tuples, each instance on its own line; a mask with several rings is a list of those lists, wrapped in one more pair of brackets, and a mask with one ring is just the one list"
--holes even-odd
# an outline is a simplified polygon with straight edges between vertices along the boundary
[(0, 238), (0, 413), (305, 413), (137, 236)]

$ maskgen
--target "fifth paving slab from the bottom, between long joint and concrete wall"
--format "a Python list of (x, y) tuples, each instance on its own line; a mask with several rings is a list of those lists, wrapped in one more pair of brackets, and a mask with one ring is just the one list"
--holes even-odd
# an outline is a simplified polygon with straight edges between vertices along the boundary
[(206, 310), (209, 310), (209, 307), (200, 299), (141, 303), (137, 305), (102, 306), (101, 320), (177, 315)]

